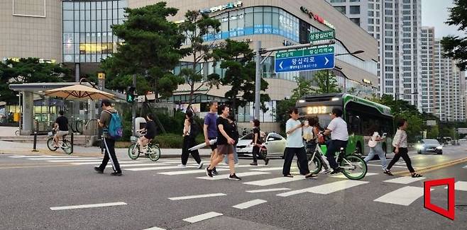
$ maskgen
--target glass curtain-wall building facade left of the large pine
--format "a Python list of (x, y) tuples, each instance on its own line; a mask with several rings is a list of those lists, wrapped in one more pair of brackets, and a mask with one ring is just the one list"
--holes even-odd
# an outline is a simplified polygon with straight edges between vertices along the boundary
[(100, 62), (116, 52), (111, 25), (121, 24), (127, 1), (63, 1), (63, 62)]

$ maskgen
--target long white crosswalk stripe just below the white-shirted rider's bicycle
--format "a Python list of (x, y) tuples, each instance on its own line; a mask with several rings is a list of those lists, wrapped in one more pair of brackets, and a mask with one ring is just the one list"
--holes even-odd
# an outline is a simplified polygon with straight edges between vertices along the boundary
[(352, 187), (355, 187), (355, 186), (358, 186), (358, 185), (364, 185), (366, 183), (369, 183), (369, 182), (368, 181), (361, 181), (361, 180), (340, 180), (340, 181), (336, 181), (336, 182), (333, 182), (333, 183), (327, 183), (327, 184), (324, 184), (324, 185), (314, 186), (314, 187), (311, 187), (311, 188), (304, 188), (304, 189), (300, 189), (300, 190), (292, 190), (290, 192), (283, 192), (283, 193), (278, 194), (278, 196), (280, 196), (280, 197), (289, 197), (291, 195), (297, 195), (297, 194), (304, 193), (304, 192), (312, 192), (312, 193), (326, 195), (326, 194), (329, 194), (329, 193), (332, 193), (332, 192), (338, 192), (338, 191), (341, 191), (341, 190), (346, 190), (348, 188), (352, 188)]

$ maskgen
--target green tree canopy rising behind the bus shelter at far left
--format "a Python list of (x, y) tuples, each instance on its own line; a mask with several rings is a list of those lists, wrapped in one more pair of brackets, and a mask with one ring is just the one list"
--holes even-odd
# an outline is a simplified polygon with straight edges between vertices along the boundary
[(61, 64), (42, 62), (28, 57), (19, 60), (6, 59), (0, 62), (0, 95), (7, 103), (17, 103), (16, 92), (9, 89), (10, 84), (72, 81), (70, 69)]

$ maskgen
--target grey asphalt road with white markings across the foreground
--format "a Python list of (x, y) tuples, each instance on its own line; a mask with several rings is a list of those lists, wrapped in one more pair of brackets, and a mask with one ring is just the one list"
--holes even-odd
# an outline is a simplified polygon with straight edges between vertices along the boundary
[[(466, 146), (447, 146), (444, 152), (442, 156), (412, 154), (414, 166), (424, 168), (466, 157)], [(15, 156), (14, 151), (0, 155), (0, 229), (466, 229), (467, 226), (464, 207), (456, 207), (454, 221), (424, 209), (422, 190), (424, 180), (454, 177), (458, 182), (456, 205), (467, 205), (467, 167), (463, 168), (467, 162), (427, 171), (421, 180), (386, 176), (379, 161), (373, 161), (363, 180), (320, 175), (313, 180), (295, 176), (297, 180), (284, 182), (280, 159), (256, 167), (244, 167), (251, 160), (241, 159), (243, 167), (237, 168), (241, 181), (206, 180), (204, 171), (194, 168), (194, 164), (190, 165), (193, 168), (177, 168), (178, 159), (160, 159), (156, 163), (147, 159), (131, 161), (128, 156), (120, 159), (123, 176), (115, 177), (109, 174), (111, 168), (104, 174), (92, 170), (99, 158)], [(394, 171), (405, 169), (403, 163), (396, 166)], [(218, 169), (222, 167), (226, 166)], [(297, 168), (292, 171), (297, 172)], [(220, 173), (225, 176), (228, 171)], [(391, 179), (395, 180), (387, 181)], [(187, 197), (193, 195), (202, 197)], [(446, 207), (446, 200), (444, 186), (434, 188), (432, 202)], [(109, 206), (70, 209), (75, 205), (96, 204)], [(202, 214), (211, 218), (199, 217)]]

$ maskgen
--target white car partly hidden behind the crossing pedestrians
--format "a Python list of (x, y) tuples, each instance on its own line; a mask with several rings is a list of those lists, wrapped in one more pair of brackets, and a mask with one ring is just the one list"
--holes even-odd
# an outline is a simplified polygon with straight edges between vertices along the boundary
[[(245, 136), (238, 139), (238, 156), (253, 156), (253, 146), (251, 146), (252, 141), (253, 133), (246, 134)], [(286, 144), (287, 140), (284, 137), (275, 132), (270, 132), (266, 135), (265, 142), (263, 143), (263, 149), (265, 149), (263, 154), (267, 155), (268, 157), (278, 156), (283, 158)]]

